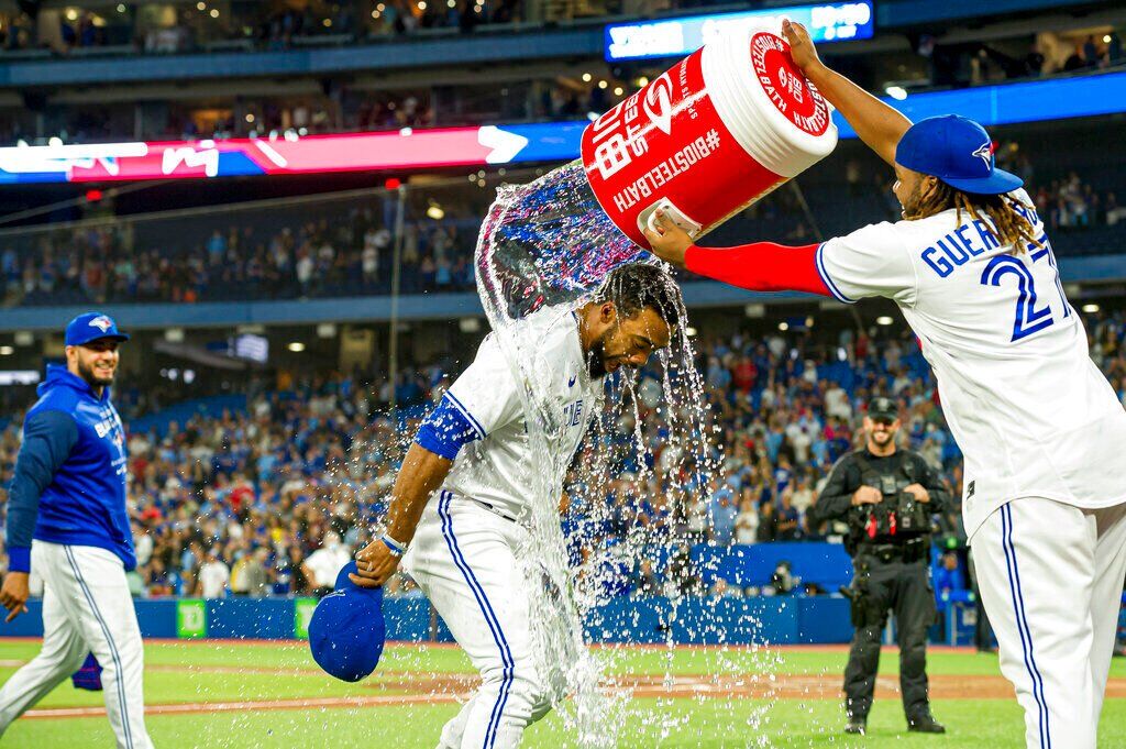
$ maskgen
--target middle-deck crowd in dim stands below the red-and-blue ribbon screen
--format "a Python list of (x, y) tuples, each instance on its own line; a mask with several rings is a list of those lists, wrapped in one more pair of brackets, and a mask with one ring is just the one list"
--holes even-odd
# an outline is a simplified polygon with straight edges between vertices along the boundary
[[(1102, 228), (1118, 237), (1120, 229), (1112, 228), (1126, 221), (1126, 206), (1114, 191), (1096, 189), (1074, 171), (1036, 187), (1029, 159), (1015, 143), (1001, 145), (998, 159), (1034, 185), (1029, 193), (1049, 230), (1065, 230), (1053, 234), (1057, 250), (1066, 253), (1074, 244), (1080, 251), (1094, 251), (1085, 234), (1072, 232)], [(863, 175), (850, 161), (841, 189), (849, 195), (870, 193)], [(883, 175), (876, 179), (883, 187), (873, 199), (881, 213), (866, 217), (896, 220), (901, 208), (891, 184), (884, 185)], [(474, 287), (472, 258), (480, 226), (474, 216), (485, 209), (477, 203), (491, 195), (471, 187), (457, 195), (456, 205), (446, 205), (440, 220), (426, 217), (422, 206), (408, 212), (401, 248), (403, 293)], [(2, 241), (0, 302), (194, 303), (386, 294), (391, 288), (394, 237), (388, 228), (394, 214), (387, 200), (329, 205), (320, 216), (285, 208), (248, 214), (209, 235), (195, 229), (191, 217), (179, 221), (161, 231), (118, 221)], [(795, 194), (779, 190), (733, 220), (732, 228), (742, 225), (745, 231), (739, 231), (753, 235), (785, 225), (789, 229), (781, 241), (816, 241), (806, 221)]]

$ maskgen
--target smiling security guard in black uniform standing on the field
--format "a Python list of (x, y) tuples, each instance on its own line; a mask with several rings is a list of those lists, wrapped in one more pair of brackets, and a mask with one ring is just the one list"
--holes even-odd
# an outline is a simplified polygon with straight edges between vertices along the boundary
[(900, 644), (900, 686), (908, 730), (945, 733), (930, 713), (927, 694), (927, 630), (935, 622), (930, 582), (931, 516), (949, 492), (922, 456), (899, 451), (899, 408), (874, 398), (864, 419), (867, 444), (833, 466), (815, 505), (811, 525), (844, 520), (846, 550), (854, 579), (842, 589), (852, 601), (856, 634), (844, 669), (846, 733), (865, 733), (879, 666), (881, 633), (895, 613)]

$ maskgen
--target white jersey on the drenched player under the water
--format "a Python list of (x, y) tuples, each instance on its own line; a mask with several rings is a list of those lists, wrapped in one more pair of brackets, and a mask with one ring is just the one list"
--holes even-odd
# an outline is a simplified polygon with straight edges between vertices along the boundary
[[(563, 430), (552, 440), (553, 457), (566, 462), (582, 442), (602, 398), (601, 380), (591, 378), (579, 341), (578, 316), (571, 307), (540, 310), (516, 323), (520, 340), (537, 341), (540, 373), (557, 398)], [(533, 454), (524, 422), (518, 384), (495, 333), (477, 349), (447, 396), (468, 419), (479, 439), (466, 445), (443, 489), (488, 502), (504, 515), (522, 518), (528, 501), (529, 472), (539, 462)]]

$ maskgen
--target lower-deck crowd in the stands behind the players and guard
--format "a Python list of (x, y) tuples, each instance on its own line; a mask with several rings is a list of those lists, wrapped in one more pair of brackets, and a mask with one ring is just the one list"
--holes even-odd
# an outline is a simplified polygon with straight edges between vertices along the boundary
[[(1126, 316), (1099, 315), (1088, 324), (1092, 357), (1126, 403)], [(863, 404), (875, 393), (901, 403), (904, 444), (941, 469), (958, 497), (959, 455), (914, 340), (893, 328), (877, 331), (874, 339), (844, 330), (833, 341), (798, 330), (699, 339), (697, 366), (718, 428), (712, 453), (700, 456), (716, 466), (709, 480), (685, 460), (688, 443), (670, 437), (660, 421), (660, 373), (641, 373), (632, 391), (636, 410), (627, 403), (609, 413), (577, 458), (563, 516), (577, 559), (627, 541), (682, 550), (668, 569), (637, 561), (620, 591), (644, 595), (671, 580), (698, 590), (691, 545), (839, 532), (810, 527), (806, 511), (833, 462), (863, 438)], [(287, 392), (256, 386), (242, 410), (131, 429), (135, 594), (306, 595), (330, 588), (383, 511), (404, 440), (450, 371), (450, 363), (435, 363), (395, 383), (410, 417), (403, 423), (386, 416), (390, 382), (333, 375)], [(135, 402), (128, 391), (123, 386), (125, 404)], [(16, 414), (0, 431), (0, 487), (11, 480), (19, 423)], [(647, 447), (641, 455), (636, 434)], [(959, 538), (957, 508), (939, 518), (939, 528)], [(949, 585), (964, 583), (957, 556), (942, 567)], [(402, 578), (392, 586), (395, 592), (410, 588)], [(716, 580), (711, 592), (745, 591)]]

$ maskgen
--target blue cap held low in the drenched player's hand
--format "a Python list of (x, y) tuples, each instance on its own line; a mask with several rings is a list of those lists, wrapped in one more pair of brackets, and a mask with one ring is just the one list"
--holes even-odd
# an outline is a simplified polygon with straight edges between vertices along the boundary
[(333, 591), (313, 609), (309, 648), (330, 676), (359, 681), (379, 663), (386, 624), (383, 588), (360, 588), (348, 579), (349, 572), (356, 572), (356, 562), (345, 564)]

